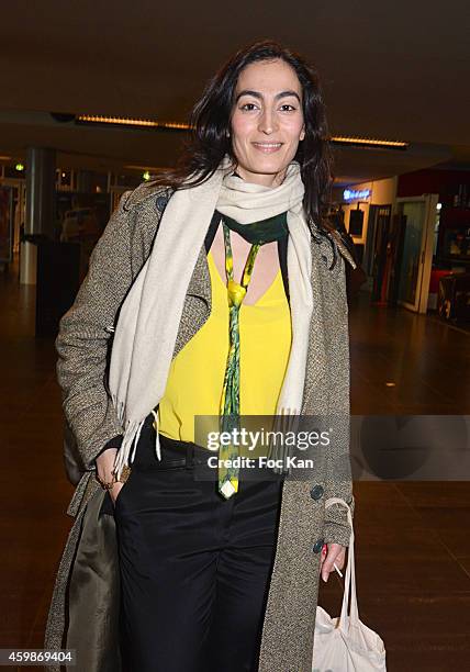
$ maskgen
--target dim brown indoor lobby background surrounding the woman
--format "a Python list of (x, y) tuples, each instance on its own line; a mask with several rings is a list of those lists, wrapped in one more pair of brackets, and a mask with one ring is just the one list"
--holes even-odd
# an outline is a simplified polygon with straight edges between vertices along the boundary
[[(329, 217), (359, 261), (348, 290), (360, 617), (383, 638), (391, 672), (468, 670), (467, 3), (1, 9), (0, 648), (43, 647), (72, 523), (58, 318), (120, 195), (175, 164), (208, 78), (270, 37), (320, 72)], [(404, 468), (394, 450), (409, 451)], [(337, 615), (342, 594), (334, 573), (320, 604)]]

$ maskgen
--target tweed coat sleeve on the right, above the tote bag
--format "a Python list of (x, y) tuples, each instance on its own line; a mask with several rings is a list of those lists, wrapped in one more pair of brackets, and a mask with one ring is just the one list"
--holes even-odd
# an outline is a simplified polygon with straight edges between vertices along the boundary
[[(337, 281), (337, 296), (334, 305), (337, 325), (332, 344), (333, 361), (328, 367), (328, 385), (331, 390), (331, 408), (335, 408), (332, 418), (334, 428), (333, 449), (328, 451), (326, 461), (325, 499), (339, 497), (350, 507), (354, 517), (355, 499), (352, 494), (352, 478), (350, 467), (350, 394), (349, 394), (349, 328), (348, 305), (346, 298), (345, 259), (337, 254), (337, 265), (332, 271)], [(339, 504), (333, 504), (325, 509), (325, 544), (342, 544), (349, 546), (350, 526), (347, 520), (347, 509)]]

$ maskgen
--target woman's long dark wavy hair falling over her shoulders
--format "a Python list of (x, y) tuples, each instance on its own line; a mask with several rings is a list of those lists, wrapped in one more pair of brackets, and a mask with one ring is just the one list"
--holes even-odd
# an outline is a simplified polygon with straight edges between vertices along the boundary
[[(302, 56), (270, 40), (258, 41), (239, 49), (212, 77), (192, 109), (191, 134), (176, 168), (160, 172), (149, 184), (165, 184), (174, 189), (195, 187), (214, 173), (226, 154), (235, 166), (236, 157), (227, 132), (231, 131), (238, 76), (251, 63), (278, 58), (294, 69), (302, 87), (305, 138), (299, 143), (294, 158), (301, 166), (305, 186), (303, 204), (307, 221), (317, 224), (321, 233), (326, 233), (334, 228), (326, 216), (333, 183), (333, 156), (318, 75)], [(190, 180), (194, 172), (198, 177)]]

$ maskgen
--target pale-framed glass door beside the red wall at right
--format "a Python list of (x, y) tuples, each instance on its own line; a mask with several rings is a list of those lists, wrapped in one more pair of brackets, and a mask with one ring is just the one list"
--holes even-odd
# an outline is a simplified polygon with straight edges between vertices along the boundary
[(438, 200), (437, 193), (427, 193), (395, 201), (404, 225), (398, 302), (416, 313), (427, 310)]

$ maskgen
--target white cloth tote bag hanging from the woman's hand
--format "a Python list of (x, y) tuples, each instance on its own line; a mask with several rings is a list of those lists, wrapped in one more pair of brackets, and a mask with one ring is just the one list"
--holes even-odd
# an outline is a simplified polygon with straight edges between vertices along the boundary
[(339, 617), (332, 618), (321, 606), (316, 607), (312, 672), (385, 672), (385, 647), (382, 639), (359, 620), (351, 512), (348, 504), (338, 497), (326, 500), (325, 507), (332, 504), (347, 507), (351, 527), (345, 592)]

